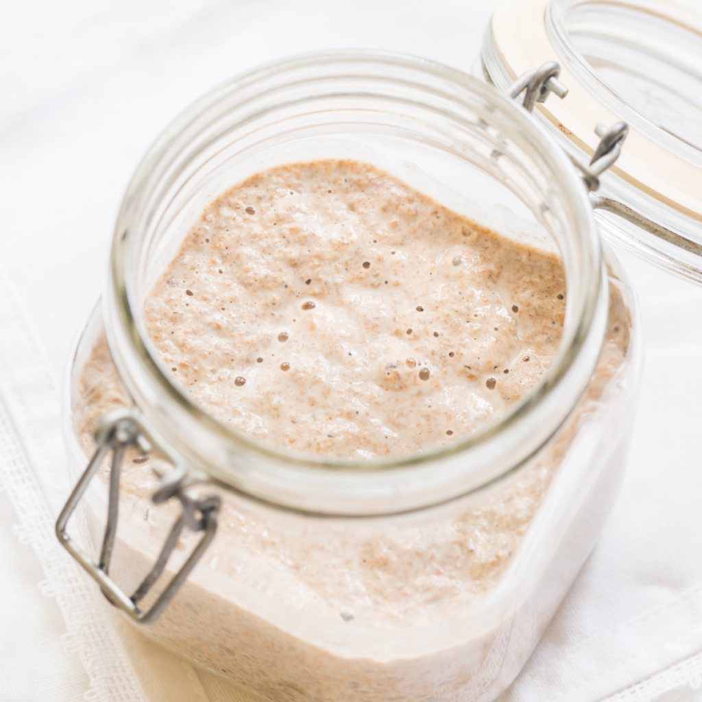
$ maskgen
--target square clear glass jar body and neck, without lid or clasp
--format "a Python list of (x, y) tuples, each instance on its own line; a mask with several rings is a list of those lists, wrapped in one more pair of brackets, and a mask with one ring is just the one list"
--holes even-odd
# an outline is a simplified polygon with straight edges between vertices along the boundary
[[(192, 404), (152, 347), (144, 300), (194, 216), (262, 168), (340, 155), (561, 256), (559, 354), (486, 430), (396, 460), (282, 451)], [(221, 499), (214, 541), (144, 628), (167, 647), (278, 702), (491, 699), (531, 654), (614, 503), (638, 333), (577, 172), (522, 107), (425, 60), (305, 56), (206, 96), (140, 164), (72, 359), (67, 451), (83, 472), (98, 418), (119, 406), (157, 437), (149, 456), (124, 458), (110, 576), (126, 592), (178, 516), (175, 501), (150, 500), (154, 470), (170, 462)], [(93, 558), (108, 468), (98, 475), (81, 503)], [(168, 574), (198, 538), (183, 537)]]

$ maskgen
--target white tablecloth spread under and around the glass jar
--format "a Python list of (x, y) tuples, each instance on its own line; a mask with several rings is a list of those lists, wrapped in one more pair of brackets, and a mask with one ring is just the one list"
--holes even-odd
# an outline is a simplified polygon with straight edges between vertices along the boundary
[[(691, 0), (694, 3), (694, 0)], [(58, 388), (105, 279), (126, 182), (192, 100), (300, 51), (369, 46), (469, 69), (493, 0), (0, 8), (0, 702), (246, 702), (114, 616), (55, 542)], [(501, 702), (702, 702), (702, 289), (617, 252), (645, 367), (621, 498)]]

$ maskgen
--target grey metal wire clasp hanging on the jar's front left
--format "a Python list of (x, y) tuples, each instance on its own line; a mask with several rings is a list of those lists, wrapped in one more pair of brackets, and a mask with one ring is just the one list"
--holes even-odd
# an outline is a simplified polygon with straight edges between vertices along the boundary
[[(97, 448), (88, 463), (88, 467), (79, 479), (71, 496), (63, 508), (56, 522), (56, 536), (64, 548), (81, 564), (88, 574), (100, 585), (112, 604), (126, 612), (135, 621), (149, 624), (156, 620), (164, 608), (176, 595), (180, 585), (190, 575), (190, 571), (195, 567), (201, 555), (212, 541), (217, 530), (217, 514), (220, 510), (221, 501), (217, 495), (200, 496), (192, 488), (194, 484), (202, 482), (199, 479), (190, 477), (183, 467), (176, 468), (168, 473), (161, 481), (159, 489), (153, 494), (152, 500), (159, 504), (171, 497), (177, 497), (183, 505), (183, 512), (173, 524), (166, 543), (164, 543), (161, 553), (157, 558), (149, 574), (133, 592), (131, 596), (125, 594), (112, 578), (108, 575), (110, 560), (112, 559), (112, 548), (117, 536), (117, 519), (119, 512), (119, 472), (124, 458), (124, 452), (128, 446), (135, 446), (141, 453), (148, 453), (152, 450), (150, 442), (146, 439), (147, 431), (135, 416), (133, 411), (119, 409), (111, 412), (100, 420), (97, 430), (95, 430), (95, 443)], [(112, 465), (110, 468), (110, 499), (107, 508), (107, 525), (105, 526), (105, 536), (102, 538), (102, 548), (100, 550), (100, 562), (95, 565), (86, 553), (72, 541), (66, 533), (68, 520), (73, 514), (81, 497), (85, 493), (88, 484), (97, 472), (102, 459), (107, 453), (112, 451)], [(191, 531), (203, 531), (204, 534), (190, 556), (180, 568), (178, 573), (166, 585), (156, 602), (147, 611), (138, 608), (138, 602), (147, 595), (154, 583), (163, 573), (168, 557), (176, 548), (178, 538), (183, 529), (187, 527)]]

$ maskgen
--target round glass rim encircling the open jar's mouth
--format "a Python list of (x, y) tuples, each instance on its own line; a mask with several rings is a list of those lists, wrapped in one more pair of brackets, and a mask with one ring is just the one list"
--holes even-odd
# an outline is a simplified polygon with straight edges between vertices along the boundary
[[(183, 135), (187, 134), (187, 131), (192, 128), (194, 122), (201, 115), (212, 110), (223, 100), (235, 97), (237, 92), (243, 91), (244, 88), (265, 84), (265, 81), (271, 77), (280, 80), (297, 70), (321, 66), (326, 67), (326, 69), (343, 66), (355, 68), (365, 66), (373, 67), (373, 69), (383, 69), (384, 67), (390, 69), (392, 67), (417, 75), (421, 74), (428, 84), (433, 80), (451, 84), (456, 90), (457, 99), (467, 99), (469, 95), (472, 95), (473, 99), (484, 100), (487, 105), (491, 105), (491, 109), (499, 110), (505, 119), (509, 119), (515, 128), (523, 133), (525, 143), (529, 142), (538, 148), (545, 161), (548, 162), (549, 168), (552, 169), (552, 174), (558, 179), (564, 199), (563, 204), (569, 208), (572, 215), (574, 227), (576, 227), (576, 246), (579, 247), (576, 263), (578, 276), (581, 277), (581, 291), (577, 299), (571, 298), (569, 291), (567, 305), (571, 305), (571, 299), (573, 299), (573, 305), (576, 305), (576, 309), (574, 311), (574, 307), (571, 306), (571, 310), (568, 310), (567, 307), (567, 313), (570, 312), (574, 315), (574, 322), (569, 329), (564, 329), (564, 340), (557, 357), (540, 383), (531, 389), (527, 397), (512, 406), (510, 411), (505, 413), (505, 416), (494, 421), (484, 430), (468, 435), (468, 437), (448, 446), (396, 458), (345, 461), (313, 454), (298, 456), (276, 446), (251, 439), (243, 433), (227, 428), (206, 413), (204, 409), (190, 401), (185, 390), (171, 380), (170, 376), (161, 368), (159, 358), (152, 351), (145, 326), (137, 312), (139, 305), (131, 279), (131, 271), (135, 265), (135, 228), (138, 226), (135, 221), (135, 213), (143, 213), (150, 206), (153, 206), (153, 203), (147, 201), (149, 197), (152, 197), (152, 192), (147, 192), (145, 186), (158, 168), (163, 169), (162, 161), (173, 157), (174, 151), (181, 154), (185, 148)], [(486, 86), (481, 81), (457, 69), (411, 55), (378, 51), (331, 51), (306, 54), (272, 62), (227, 81), (223, 86), (216, 88), (195, 102), (192, 107), (178, 117), (147, 152), (128, 185), (117, 218), (112, 246), (110, 280), (107, 296), (105, 296), (107, 338), (118, 372), (139, 409), (145, 411), (143, 405), (149, 404), (145, 400), (146, 395), (142, 392), (144, 385), (148, 385), (149, 391), (152, 392), (151, 397), (156, 392), (160, 394), (162, 402), (174, 403), (178, 406), (179, 416), (187, 417), (192, 422), (191, 427), (197, 426), (211, 439), (223, 442), (227, 445), (230, 453), (232, 451), (239, 452), (249, 458), (256, 456), (263, 460), (277, 461), (276, 470), (296, 468), (303, 471), (311, 469), (318, 474), (324, 472), (326, 475), (348, 476), (354, 473), (355, 475), (368, 476), (397, 472), (397, 469), (401, 468), (425, 469), (428, 464), (449, 461), (458, 456), (464, 459), (463, 463), (465, 464), (471, 463), (471, 461), (465, 460), (470, 456), (476, 457), (477, 463), (479, 463), (477, 456), (481, 451), (487, 451), (486, 447), (489, 446), (492, 446), (494, 450), (500, 437), (503, 437), (505, 432), (513, 430), (515, 426), (523, 425), (524, 418), (534, 415), (536, 408), (541, 408), (542, 412), (552, 412), (552, 408), (550, 410), (544, 409), (549, 402), (552, 407), (559, 407), (558, 411), (561, 416), (554, 424), (555, 428), (558, 428), (572, 409), (572, 406), (561, 406), (562, 402), (558, 402), (557, 398), (554, 397), (555, 390), (559, 388), (559, 384), (564, 383), (564, 379), (569, 378), (569, 383), (573, 385), (570, 390), (571, 402), (574, 403), (581, 396), (589, 381), (592, 369), (594, 369), (604, 340), (608, 299), (608, 288), (604, 284), (607, 280), (604, 266), (588, 196), (576, 171), (562, 150), (553, 143), (543, 128), (522, 107), (498, 93), (495, 88)], [(183, 444), (187, 439), (179, 436), (178, 432), (169, 431), (167, 422), (161, 421), (158, 411), (155, 413), (150, 411), (149, 414), (150, 421), (157, 425), (157, 431), (168, 437), (169, 442), (174, 442), (176, 448), (192, 460), (197, 452), (189, 451), (188, 447)], [(543, 443), (548, 441), (551, 435), (552, 432), (548, 437), (544, 437), (540, 446), (543, 446)], [(519, 465), (527, 461), (531, 455), (533, 455), (533, 451), (521, 456), (516, 463), (512, 460), (512, 463), (506, 468), (503, 466), (503, 470), (487, 471), (482, 478), (472, 479), (472, 482), (469, 481), (472, 487), (468, 492), (491, 484), (495, 479), (503, 479), (506, 475), (517, 470)], [(200, 468), (204, 468), (211, 477), (218, 479), (223, 484), (244, 491), (244, 493), (260, 500), (270, 501), (276, 505), (281, 504), (280, 499), (267, 494), (265, 486), (253, 484), (256, 481), (252, 482), (251, 471), (246, 477), (241, 475), (232, 477), (226, 470), (218, 470), (210, 463), (201, 463)], [(319, 471), (319, 469), (331, 470)], [(461, 469), (458, 470), (460, 472)], [(470, 465), (465, 470), (470, 470)], [(302, 473), (298, 471), (296, 475), (300, 477)], [(460, 494), (465, 495), (467, 491), (462, 489)], [(451, 496), (451, 499), (456, 496), (458, 494)], [(296, 505), (283, 506), (296, 508)], [(303, 511), (317, 511), (308, 510), (309, 506), (303, 506)], [(403, 508), (395, 511), (407, 510)]]

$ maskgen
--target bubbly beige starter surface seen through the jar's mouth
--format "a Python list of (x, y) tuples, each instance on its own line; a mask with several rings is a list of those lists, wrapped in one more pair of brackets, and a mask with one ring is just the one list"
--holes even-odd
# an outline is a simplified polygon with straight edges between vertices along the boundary
[(465, 437), (535, 385), (564, 293), (556, 256), (369, 164), (313, 161), (208, 206), (145, 321), (173, 379), (230, 428), (397, 457)]

